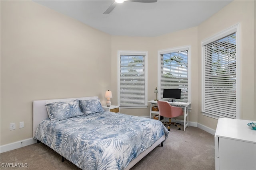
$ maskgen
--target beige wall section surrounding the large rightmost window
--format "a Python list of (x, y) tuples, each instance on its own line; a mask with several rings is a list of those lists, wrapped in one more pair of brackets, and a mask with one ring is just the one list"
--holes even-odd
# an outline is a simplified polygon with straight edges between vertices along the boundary
[(256, 120), (255, 110), (255, 3), (233, 1), (217, 14), (198, 26), (198, 123), (216, 129), (217, 120), (206, 117), (201, 110), (201, 42), (233, 25), (240, 23), (240, 119)]

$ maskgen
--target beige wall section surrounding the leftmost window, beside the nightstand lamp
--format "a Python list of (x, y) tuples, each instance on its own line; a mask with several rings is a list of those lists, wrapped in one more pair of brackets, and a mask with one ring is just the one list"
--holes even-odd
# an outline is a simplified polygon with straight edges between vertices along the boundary
[[(150, 37), (126, 37), (112, 36), (112, 92), (113, 103), (117, 104), (117, 78), (118, 78), (118, 50), (124, 51), (148, 51), (148, 99), (152, 100), (154, 88), (157, 86), (157, 51), (155, 51), (153, 38)], [(153, 68), (154, 67), (154, 68)], [(152, 79), (155, 81), (150, 81)], [(150, 89), (152, 93), (150, 93)], [(120, 112), (138, 115), (149, 116), (149, 109), (120, 109)]]

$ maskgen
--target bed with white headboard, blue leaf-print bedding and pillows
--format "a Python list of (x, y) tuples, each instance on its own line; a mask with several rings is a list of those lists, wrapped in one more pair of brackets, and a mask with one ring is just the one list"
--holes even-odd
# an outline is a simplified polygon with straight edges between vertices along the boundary
[(158, 120), (104, 111), (97, 96), (33, 101), (33, 138), (83, 170), (128, 170), (168, 133)]

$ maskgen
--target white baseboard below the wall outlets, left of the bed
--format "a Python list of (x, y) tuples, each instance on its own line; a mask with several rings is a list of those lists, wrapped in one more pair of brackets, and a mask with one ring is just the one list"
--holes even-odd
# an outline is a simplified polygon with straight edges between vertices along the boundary
[(14, 150), (14, 149), (18, 149), (18, 148), (21, 148), (21, 147), (26, 147), (26, 146), (32, 145), (36, 142), (37, 141), (35, 139), (28, 138), (28, 139), (24, 139), (24, 140), (21, 140), (21, 141), (14, 142), (14, 143), (9, 143), (9, 144), (6, 144), (6, 145), (2, 145), (2, 146), (0, 146), (0, 153), (7, 152), (7, 151), (10, 151), (10, 150)]

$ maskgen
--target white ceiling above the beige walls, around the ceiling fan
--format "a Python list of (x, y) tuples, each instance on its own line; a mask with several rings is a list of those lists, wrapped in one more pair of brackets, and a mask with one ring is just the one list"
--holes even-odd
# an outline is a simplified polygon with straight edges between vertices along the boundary
[(114, 0), (34, 0), (110, 35), (154, 37), (195, 27), (232, 0), (125, 1), (103, 14)]

